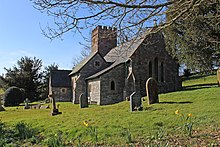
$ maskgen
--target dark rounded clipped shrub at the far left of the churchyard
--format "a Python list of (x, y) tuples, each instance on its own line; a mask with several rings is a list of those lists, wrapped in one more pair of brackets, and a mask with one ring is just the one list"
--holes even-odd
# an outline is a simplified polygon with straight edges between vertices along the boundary
[(23, 93), (18, 87), (8, 88), (3, 95), (4, 106), (17, 106), (23, 102)]

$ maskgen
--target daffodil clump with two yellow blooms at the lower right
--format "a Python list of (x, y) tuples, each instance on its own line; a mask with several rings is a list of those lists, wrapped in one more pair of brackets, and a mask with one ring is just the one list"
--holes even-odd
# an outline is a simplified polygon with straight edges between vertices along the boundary
[(182, 128), (183, 128), (184, 132), (187, 133), (189, 137), (192, 137), (192, 127), (193, 127), (192, 113), (189, 113), (185, 117), (184, 114), (180, 113), (179, 110), (176, 110), (175, 114), (181, 118), (181, 121), (183, 123)]

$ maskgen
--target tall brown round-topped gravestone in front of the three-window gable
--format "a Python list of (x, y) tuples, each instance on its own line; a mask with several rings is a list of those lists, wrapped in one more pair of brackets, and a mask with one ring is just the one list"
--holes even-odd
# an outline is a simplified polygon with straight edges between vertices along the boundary
[(146, 82), (146, 92), (149, 104), (159, 103), (157, 81), (152, 77)]

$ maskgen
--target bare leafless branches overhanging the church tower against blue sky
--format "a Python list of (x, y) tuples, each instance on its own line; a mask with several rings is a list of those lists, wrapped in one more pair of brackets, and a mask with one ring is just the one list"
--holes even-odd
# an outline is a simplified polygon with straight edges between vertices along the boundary
[[(44, 35), (50, 39), (61, 37), (69, 31), (82, 32), (96, 25), (108, 25), (118, 29), (121, 40), (138, 36), (154, 26), (157, 30), (173, 24), (183, 15), (187, 17), (193, 9), (205, 0), (32, 0), (34, 6), (54, 17), (55, 26), (47, 26)], [(167, 21), (166, 13), (175, 17)], [(175, 7), (174, 7), (175, 6)]]

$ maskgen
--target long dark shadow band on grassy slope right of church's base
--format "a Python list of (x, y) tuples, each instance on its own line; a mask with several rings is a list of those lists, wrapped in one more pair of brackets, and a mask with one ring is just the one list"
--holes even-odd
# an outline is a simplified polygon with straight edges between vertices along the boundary
[(207, 84), (195, 84), (190, 86), (184, 86), (182, 91), (190, 91), (190, 90), (197, 90), (197, 89), (204, 89), (204, 88), (212, 88), (217, 86), (217, 83), (207, 83)]

